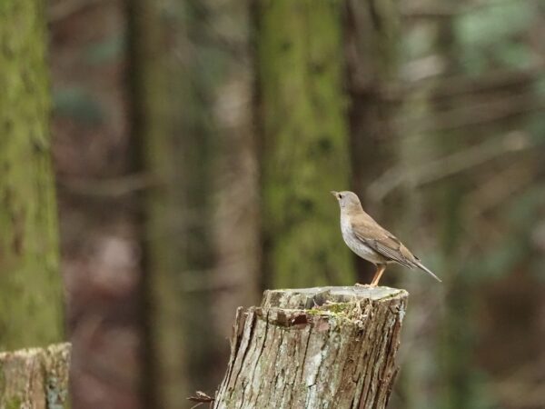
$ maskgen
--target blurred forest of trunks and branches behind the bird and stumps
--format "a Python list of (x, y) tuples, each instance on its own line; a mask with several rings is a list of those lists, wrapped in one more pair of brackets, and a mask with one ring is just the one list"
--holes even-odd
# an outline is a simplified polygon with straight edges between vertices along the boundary
[(390, 407), (545, 408), (544, 1), (4, 0), (0, 45), (0, 347), (69, 338), (74, 407), (191, 407), (238, 305), (368, 283), (351, 189), (443, 279), (382, 278)]

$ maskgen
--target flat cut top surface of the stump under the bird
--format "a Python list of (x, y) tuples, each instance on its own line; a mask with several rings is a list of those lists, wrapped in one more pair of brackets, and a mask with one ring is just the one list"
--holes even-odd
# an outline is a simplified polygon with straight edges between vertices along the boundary
[(372, 303), (391, 298), (407, 298), (405, 290), (390, 287), (343, 286), (266, 290), (262, 308), (308, 310), (324, 304)]

